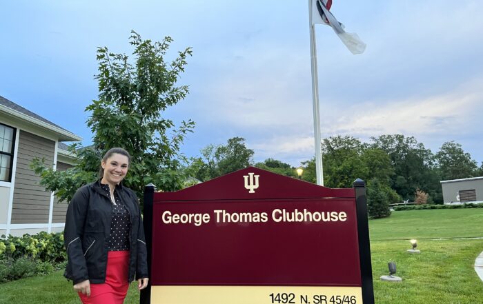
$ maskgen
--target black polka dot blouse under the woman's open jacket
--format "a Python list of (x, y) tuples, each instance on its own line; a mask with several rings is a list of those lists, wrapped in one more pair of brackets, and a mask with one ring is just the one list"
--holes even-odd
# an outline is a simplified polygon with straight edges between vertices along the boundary
[[(110, 199), (109, 185), (101, 184), (101, 187)], [(129, 212), (124, 203), (114, 190), (115, 203), (112, 203), (112, 221), (110, 224), (110, 237), (108, 239), (109, 251), (129, 250)], [(111, 200), (112, 201), (112, 200)]]

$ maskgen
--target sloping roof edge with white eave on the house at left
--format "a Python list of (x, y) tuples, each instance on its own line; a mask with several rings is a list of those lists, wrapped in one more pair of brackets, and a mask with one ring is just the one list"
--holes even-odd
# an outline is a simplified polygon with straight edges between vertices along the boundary
[(62, 128), (59, 125), (56, 125), (55, 123), (52, 123), (52, 121), (44, 119), (42, 116), (39, 116), (34, 112), (30, 112), (21, 105), (17, 105), (17, 103), (14, 103), (13, 101), (10, 101), (2, 96), (0, 96), (0, 110), (17, 117), (18, 119), (22, 119), (23, 121), (28, 121), (28, 123), (40, 125), (43, 128), (56, 132), (59, 134), (59, 141), (81, 141), (80, 136)]

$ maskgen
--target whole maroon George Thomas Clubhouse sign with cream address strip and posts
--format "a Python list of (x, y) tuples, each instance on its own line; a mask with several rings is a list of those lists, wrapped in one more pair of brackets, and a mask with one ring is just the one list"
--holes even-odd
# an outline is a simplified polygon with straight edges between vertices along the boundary
[(250, 167), (155, 193), (150, 211), (141, 303), (374, 303), (364, 181), (331, 189)]

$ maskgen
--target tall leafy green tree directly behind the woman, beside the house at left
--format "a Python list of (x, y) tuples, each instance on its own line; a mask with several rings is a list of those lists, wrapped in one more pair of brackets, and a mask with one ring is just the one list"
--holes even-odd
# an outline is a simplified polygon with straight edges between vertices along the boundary
[(88, 148), (71, 147), (77, 164), (66, 171), (53, 171), (39, 160), (32, 168), (40, 174), (41, 185), (57, 192), (59, 199), (70, 201), (83, 184), (97, 178), (103, 154), (122, 147), (132, 156), (124, 184), (141, 194), (144, 185), (154, 183), (160, 190), (177, 190), (183, 186), (184, 172), (178, 170), (184, 156), (181, 144), (194, 122), (182, 121), (178, 128), (161, 116), (188, 94), (187, 85), (177, 85), (184, 72), (190, 48), (166, 62), (164, 57), (172, 39), (143, 40), (132, 31), (132, 57), (115, 54), (108, 48), (97, 49), (99, 99), (86, 108), (87, 125), (94, 134)]

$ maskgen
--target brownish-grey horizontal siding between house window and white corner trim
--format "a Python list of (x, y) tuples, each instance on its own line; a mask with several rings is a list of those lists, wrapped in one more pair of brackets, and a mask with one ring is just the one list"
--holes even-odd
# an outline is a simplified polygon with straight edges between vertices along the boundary
[(50, 192), (39, 185), (40, 178), (30, 169), (30, 163), (37, 157), (52, 165), (55, 141), (20, 130), (17, 149), (12, 224), (48, 223)]

